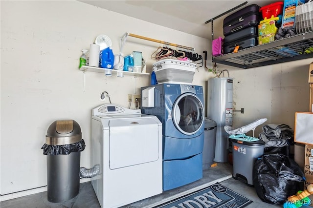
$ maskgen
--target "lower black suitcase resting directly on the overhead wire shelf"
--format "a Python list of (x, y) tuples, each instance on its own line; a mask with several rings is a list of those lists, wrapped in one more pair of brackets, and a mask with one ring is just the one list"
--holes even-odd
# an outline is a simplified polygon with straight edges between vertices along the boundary
[(251, 26), (224, 37), (224, 54), (231, 53), (238, 45), (239, 50), (258, 44), (258, 29)]

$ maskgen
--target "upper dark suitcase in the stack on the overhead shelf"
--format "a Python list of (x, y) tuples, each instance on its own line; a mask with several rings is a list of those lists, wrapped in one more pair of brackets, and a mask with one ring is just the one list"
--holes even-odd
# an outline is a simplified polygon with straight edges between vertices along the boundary
[(256, 4), (246, 6), (245, 8), (229, 15), (224, 19), (224, 36), (227, 36), (250, 26), (257, 26), (260, 20), (262, 20), (260, 6)]

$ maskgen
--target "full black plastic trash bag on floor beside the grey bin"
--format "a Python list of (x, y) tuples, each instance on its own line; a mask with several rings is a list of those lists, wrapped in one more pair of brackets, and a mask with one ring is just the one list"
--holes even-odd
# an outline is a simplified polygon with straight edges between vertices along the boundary
[(284, 154), (265, 154), (254, 163), (253, 185), (259, 198), (282, 205), (303, 190), (305, 175), (299, 165)]

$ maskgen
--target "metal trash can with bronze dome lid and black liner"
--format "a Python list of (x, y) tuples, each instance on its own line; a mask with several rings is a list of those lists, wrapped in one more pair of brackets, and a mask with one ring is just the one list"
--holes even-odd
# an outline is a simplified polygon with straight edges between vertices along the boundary
[(47, 155), (47, 197), (65, 202), (79, 193), (80, 152), (85, 149), (81, 128), (74, 120), (53, 122), (42, 146)]

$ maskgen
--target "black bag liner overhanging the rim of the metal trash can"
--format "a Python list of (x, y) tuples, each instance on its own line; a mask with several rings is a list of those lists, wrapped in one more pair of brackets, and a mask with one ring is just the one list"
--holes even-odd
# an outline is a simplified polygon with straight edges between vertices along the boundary
[(44, 149), (44, 155), (68, 155), (71, 152), (81, 152), (85, 149), (85, 141), (82, 139), (79, 142), (68, 145), (47, 145), (41, 148)]

